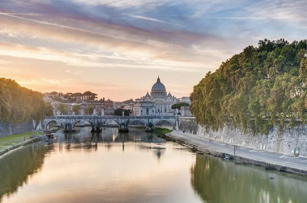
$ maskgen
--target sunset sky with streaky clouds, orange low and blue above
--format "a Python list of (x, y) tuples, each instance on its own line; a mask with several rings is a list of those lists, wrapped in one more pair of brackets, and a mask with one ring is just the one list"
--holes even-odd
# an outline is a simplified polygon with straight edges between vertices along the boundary
[(305, 0), (1, 0), (0, 77), (115, 101), (189, 96), (258, 40), (306, 39)]

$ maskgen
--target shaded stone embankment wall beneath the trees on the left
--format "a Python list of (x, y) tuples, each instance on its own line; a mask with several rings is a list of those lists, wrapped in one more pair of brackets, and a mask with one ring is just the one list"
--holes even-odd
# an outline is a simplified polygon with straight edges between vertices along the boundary
[(20, 123), (18, 125), (4, 124), (0, 122), (0, 137), (30, 132), (34, 129), (34, 124), (32, 119), (25, 123)]

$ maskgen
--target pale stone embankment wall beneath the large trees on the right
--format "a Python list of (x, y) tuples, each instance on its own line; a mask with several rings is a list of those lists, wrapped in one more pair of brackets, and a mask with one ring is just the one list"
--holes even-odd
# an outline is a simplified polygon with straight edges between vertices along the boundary
[(252, 133), (244, 134), (242, 129), (233, 128), (233, 126), (224, 126), (218, 131), (206, 132), (203, 126), (195, 122), (194, 117), (180, 117), (179, 130), (225, 143), (264, 149), (284, 155), (290, 155), (291, 148), (298, 147), (299, 157), (307, 157), (307, 126), (301, 124), (295, 126), (293, 130), (287, 126), (283, 132), (279, 132), (277, 126), (271, 128), (268, 135), (253, 135)]

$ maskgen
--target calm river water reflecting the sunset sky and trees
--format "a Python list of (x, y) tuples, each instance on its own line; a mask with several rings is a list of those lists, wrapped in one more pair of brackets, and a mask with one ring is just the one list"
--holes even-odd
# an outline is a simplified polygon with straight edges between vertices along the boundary
[(307, 202), (307, 179), (192, 153), (154, 134), (57, 132), (0, 159), (0, 202)]

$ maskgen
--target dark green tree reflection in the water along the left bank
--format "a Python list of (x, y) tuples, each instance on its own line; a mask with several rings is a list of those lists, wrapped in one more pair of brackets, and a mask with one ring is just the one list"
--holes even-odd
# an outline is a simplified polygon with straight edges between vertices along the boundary
[(41, 170), (51, 148), (36, 143), (15, 151), (13, 159), (6, 156), (0, 160), (0, 202), (4, 195), (15, 193), (18, 187), (28, 183), (30, 176)]

